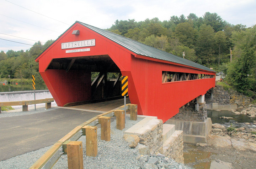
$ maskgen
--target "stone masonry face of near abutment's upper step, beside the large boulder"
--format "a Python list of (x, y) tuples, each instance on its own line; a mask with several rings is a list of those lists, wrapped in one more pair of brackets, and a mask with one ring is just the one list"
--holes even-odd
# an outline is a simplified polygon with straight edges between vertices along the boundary
[(158, 153), (163, 153), (163, 123), (162, 120), (156, 120), (158, 120), (159, 122), (153, 124), (154, 126), (150, 126), (150, 129), (146, 129), (143, 134), (139, 135), (139, 143), (147, 146), (151, 154), (157, 155)]

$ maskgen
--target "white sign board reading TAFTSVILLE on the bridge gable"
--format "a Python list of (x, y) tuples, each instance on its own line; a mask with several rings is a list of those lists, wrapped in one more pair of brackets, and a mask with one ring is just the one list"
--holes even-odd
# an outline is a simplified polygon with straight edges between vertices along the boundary
[(95, 39), (62, 43), (62, 49), (87, 47), (87, 46), (95, 46)]

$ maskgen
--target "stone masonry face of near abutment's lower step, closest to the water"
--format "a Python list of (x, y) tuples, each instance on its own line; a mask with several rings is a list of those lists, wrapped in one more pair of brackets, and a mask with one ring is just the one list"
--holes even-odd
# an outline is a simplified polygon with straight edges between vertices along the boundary
[(183, 131), (176, 130), (174, 134), (164, 142), (164, 155), (165, 157), (174, 159), (178, 163), (184, 164), (183, 147)]

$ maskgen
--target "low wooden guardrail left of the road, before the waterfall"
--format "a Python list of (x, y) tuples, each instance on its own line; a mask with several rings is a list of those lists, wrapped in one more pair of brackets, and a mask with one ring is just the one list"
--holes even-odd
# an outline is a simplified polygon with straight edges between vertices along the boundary
[(53, 98), (50, 99), (38, 99), (38, 100), (27, 100), (27, 101), (9, 101), (9, 102), (0, 102), (0, 113), (2, 110), (2, 106), (22, 106), (22, 111), (28, 111), (28, 105), (31, 104), (40, 104), (45, 103), (46, 109), (52, 107)]

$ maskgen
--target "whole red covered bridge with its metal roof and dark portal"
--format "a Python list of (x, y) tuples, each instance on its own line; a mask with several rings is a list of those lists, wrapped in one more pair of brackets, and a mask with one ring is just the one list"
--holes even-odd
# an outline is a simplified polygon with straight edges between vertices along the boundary
[[(164, 122), (189, 101), (215, 86), (215, 72), (143, 43), (75, 22), (36, 61), (58, 106), (117, 98), (120, 76), (138, 114)], [(91, 72), (98, 72), (92, 81)], [(111, 81), (109, 72), (119, 73)]]

